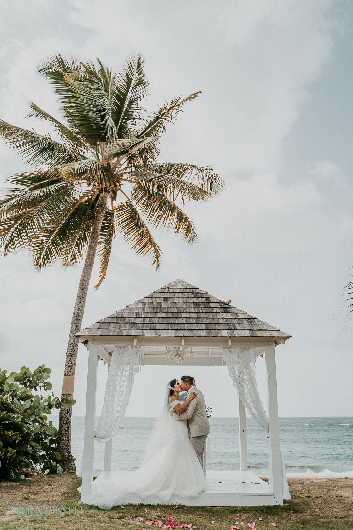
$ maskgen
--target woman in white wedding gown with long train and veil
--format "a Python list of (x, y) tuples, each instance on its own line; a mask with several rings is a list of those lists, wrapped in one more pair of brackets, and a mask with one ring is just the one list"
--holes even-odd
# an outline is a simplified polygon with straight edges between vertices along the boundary
[(141, 467), (121, 479), (98, 477), (93, 481), (87, 504), (110, 510), (131, 495), (141, 500), (153, 495), (168, 502), (172, 496), (189, 499), (209, 489), (189, 440), (187, 420), (173, 419), (174, 410), (183, 412), (197, 394), (191, 392), (184, 403), (179, 401), (180, 392), (182, 387), (177, 379), (167, 384), (164, 405), (153, 426)]

